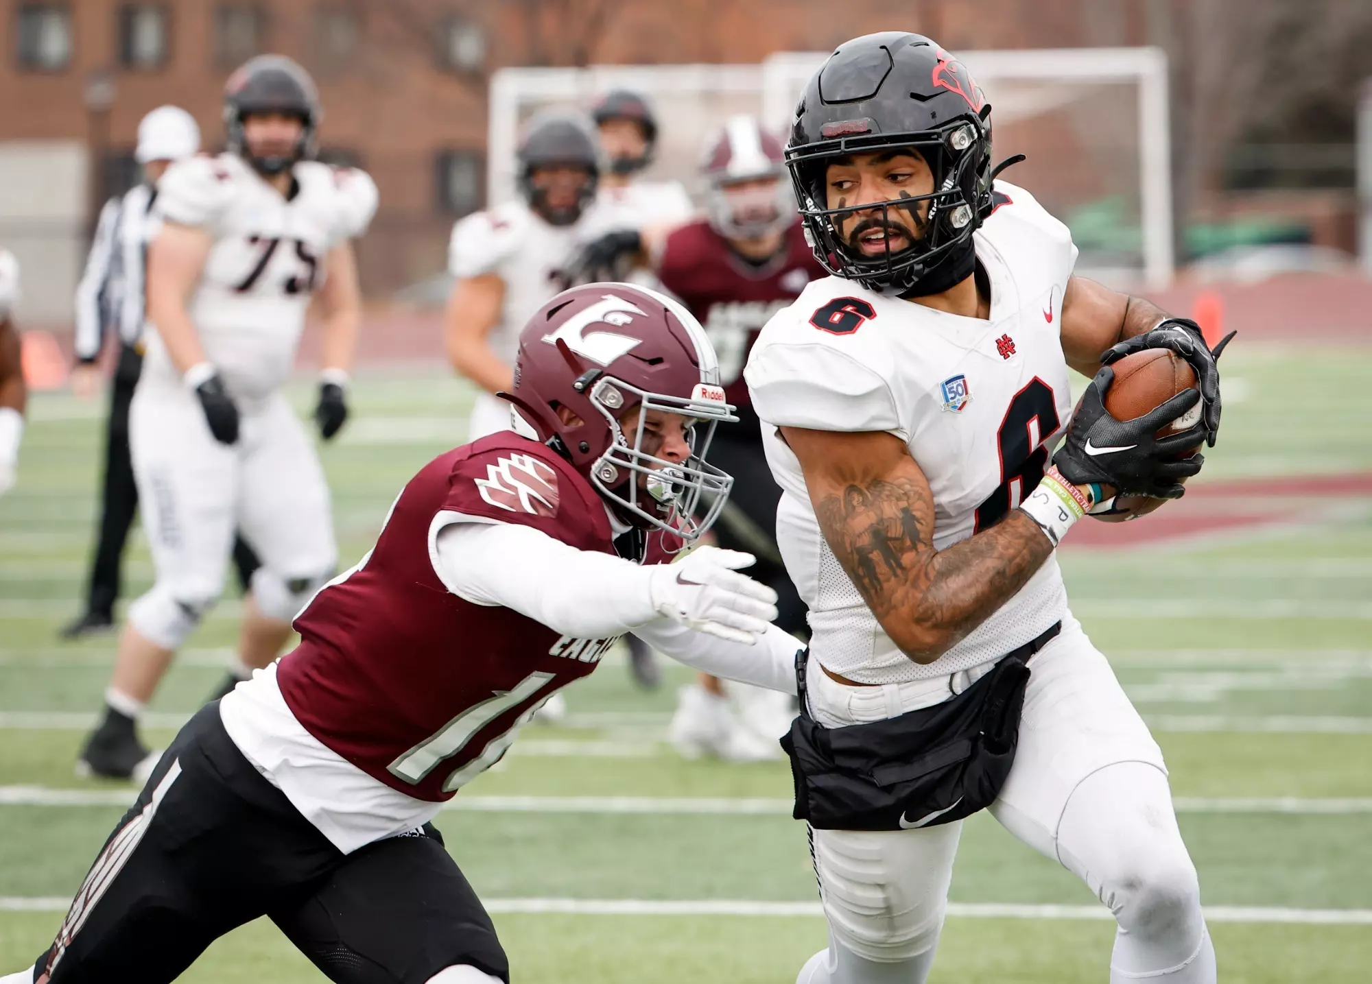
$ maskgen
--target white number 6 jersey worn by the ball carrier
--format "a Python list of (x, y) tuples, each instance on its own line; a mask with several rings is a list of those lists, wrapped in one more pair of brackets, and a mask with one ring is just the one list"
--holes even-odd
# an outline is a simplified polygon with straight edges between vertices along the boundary
[[(996, 182), (996, 200), (975, 233), (991, 281), (988, 321), (827, 277), (767, 323), (744, 370), (753, 407), (770, 425), (767, 460), (783, 491), (777, 540), (809, 606), (811, 652), (859, 682), (937, 677), (999, 659), (1066, 613), (1062, 573), (1050, 556), (960, 643), (915, 663), (829, 548), (800, 462), (775, 430), (884, 430), (903, 440), (933, 491), (937, 550), (992, 525), (1033, 491), (1072, 414), (1058, 330), (1077, 248), (1028, 192)], [(903, 534), (897, 515), (874, 521)], [(885, 544), (860, 547), (859, 562), (875, 577)]]

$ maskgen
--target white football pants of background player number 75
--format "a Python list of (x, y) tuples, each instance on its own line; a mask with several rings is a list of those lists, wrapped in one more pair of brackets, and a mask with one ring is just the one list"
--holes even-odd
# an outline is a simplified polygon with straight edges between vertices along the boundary
[(230, 447), (182, 386), (145, 376), (133, 396), (129, 444), (156, 582), (129, 621), (166, 648), (218, 599), (236, 529), (262, 561), (252, 596), (270, 618), (294, 618), (338, 561), (329, 489), (300, 421), (279, 393), (239, 410)]

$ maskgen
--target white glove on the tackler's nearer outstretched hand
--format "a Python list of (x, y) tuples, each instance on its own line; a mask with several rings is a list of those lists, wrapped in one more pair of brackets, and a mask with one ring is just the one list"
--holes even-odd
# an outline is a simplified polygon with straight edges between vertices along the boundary
[(649, 578), (653, 607), (678, 625), (752, 645), (777, 618), (777, 592), (737, 573), (756, 559), (697, 547), (675, 563), (657, 565)]

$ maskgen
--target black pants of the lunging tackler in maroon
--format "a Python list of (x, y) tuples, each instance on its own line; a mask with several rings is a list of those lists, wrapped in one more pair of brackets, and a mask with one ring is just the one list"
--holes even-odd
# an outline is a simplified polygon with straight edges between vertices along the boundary
[(218, 702), (162, 755), (36, 977), (166, 984), (259, 915), (342, 984), (424, 984), (454, 965), (509, 980), (490, 915), (431, 825), (342, 854), (243, 757)]

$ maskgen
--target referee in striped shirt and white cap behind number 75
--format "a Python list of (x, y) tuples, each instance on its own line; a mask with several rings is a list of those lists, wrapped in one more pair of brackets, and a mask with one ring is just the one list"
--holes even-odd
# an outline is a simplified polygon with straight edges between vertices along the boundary
[[(129, 455), (129, 404), (143, 371), (144, 263), (148, 243), (162, 227), (154, 206), (158, 180), (173, 162), (200, 149), (200, 127), (178, 106), (159, 106), (139, 123), (139, 144), (133, 152), (143, 169), (143, 181), (123, 197), (110, 199), (100, 210), (85, 271), (75, 296), (75, 355), (71, 388), (78, 396), (100, 392), (100, 349), (107, 334), (118, 339), (106, 421), (104, 482), (100, 488), (100, 522), (91, 574), (86, 580), (85, 610), (62, 629), (63, 639), (78, 639), (114, 625), (114, 604), (119, 600), (123, 544), (139, 508), (139, 487)], [(235, 540), (233, 562), (247, 592), (258, 561), (252, 550)]]

